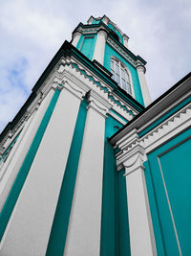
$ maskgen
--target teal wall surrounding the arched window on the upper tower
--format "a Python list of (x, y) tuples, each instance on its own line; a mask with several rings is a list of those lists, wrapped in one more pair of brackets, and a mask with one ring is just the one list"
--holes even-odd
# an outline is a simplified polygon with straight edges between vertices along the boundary
[(117, 57), (120, 59), (130, 70), (134, 91), (135, 91), (135, 97), (139, 104), (144, 105), (141, 88), (138, 80), (138, 71), (135, 67), (133, 67), (129, 62), (127, 62), (124, 58), (122, 58), (110, 45), (106, 43), (105, 45), (105, 56), (104, 56), (104, 67), (107, 68), (109, 71), (111, 71), (111, 57)]

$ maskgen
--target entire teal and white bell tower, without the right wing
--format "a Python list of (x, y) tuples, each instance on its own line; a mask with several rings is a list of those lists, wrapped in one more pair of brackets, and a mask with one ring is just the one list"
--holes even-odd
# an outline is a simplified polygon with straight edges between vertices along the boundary
[[(128, 40), (106, 15), (79, 23), (1, 133), (0, 255), (130, 256), (125, 170), (108, 138), (151, 101)], [(140, 250), (155, 255), (145, 220)]]

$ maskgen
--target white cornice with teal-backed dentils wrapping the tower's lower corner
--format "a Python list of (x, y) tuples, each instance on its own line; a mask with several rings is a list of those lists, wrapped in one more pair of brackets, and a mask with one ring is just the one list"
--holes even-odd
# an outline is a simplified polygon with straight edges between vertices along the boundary
[[(2, 139), (0, 151), (4, 152), (7, 149), (7, 146), (9, 146), (17, 130), (23, 128), (25, 121), (27, 121), (33, 111), (38, 108), (50, 89), (58, 88), (61, 90), (62, 87), (70, 90), (79, 99), (82, 99), (90, 90), (94, 90), (100, 95), (105, 95), (103, 98), (107, 99), (108, 104), (114, 107), (114, 109), (127, 120), (131, 120), (138, 114), (138, 111), (131, 105), (125, 104), (123, 100), (120, 100), (113, 88), (108, 86), (104, 81), (100, 81), (95, 74), (85, 69), (75, 58), (60, 58), (49, 77), (36, 91), (36, 96), (31, 105), (28, 106), (23, 117)], [(6, 144), (9, 137), (10, 139)]]

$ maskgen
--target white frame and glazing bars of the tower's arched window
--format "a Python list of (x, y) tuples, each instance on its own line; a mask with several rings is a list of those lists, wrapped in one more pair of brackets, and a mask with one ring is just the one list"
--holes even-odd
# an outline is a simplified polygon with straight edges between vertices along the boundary
[[(114, 68), (112, 68), (112, 61), (114, 62)], [(113, 74), (112, 78), (114, 79), (114, 81), (117, 81), (118, 85), (125, 90), (127, 93), (129, 93), (131, 96), (133, 96), (135, 98), (135, 93), (134, 93), (134, 87), (133, 87), (133, 82), (132, 82), (132, 77), (131, 77), (131, 73), (129, 71), (129, 69), (127, 68), (127, 66), (118, 58), (116, 57), (112, 57), (111, 61), (111, 72)], [(117, 64), (118, 64), (118, 79), (117, 79)], [(124, 70), (126, 76), (128, 76), (129, 79), (125, 78), (122, 76), (122, 70)], [(124, 84), (122, 85), (122, 82), (125, 81), (125, 83), (127, 83), (126, 86), (128, 87), (124, 87)]]

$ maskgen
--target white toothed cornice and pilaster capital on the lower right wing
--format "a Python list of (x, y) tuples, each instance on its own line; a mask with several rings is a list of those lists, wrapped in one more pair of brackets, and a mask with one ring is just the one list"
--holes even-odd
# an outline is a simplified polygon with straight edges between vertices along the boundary
[(147, 153), (156, 150), (187, 128), (191, 128), (191, 104), (182, 107), (180, 111), (141, 138), (138, 137), (138, 130), (132, 129), (115, 145), (117, 169), (126, 167), (128, 173), (133, 172), (147, 159)]

